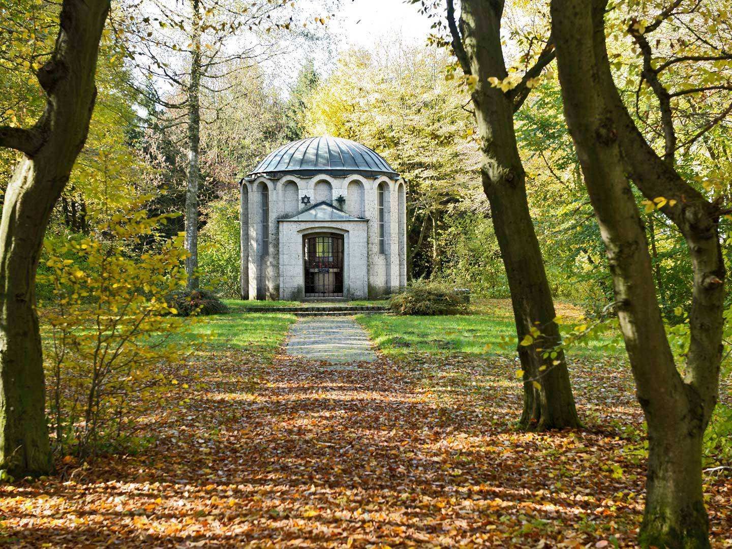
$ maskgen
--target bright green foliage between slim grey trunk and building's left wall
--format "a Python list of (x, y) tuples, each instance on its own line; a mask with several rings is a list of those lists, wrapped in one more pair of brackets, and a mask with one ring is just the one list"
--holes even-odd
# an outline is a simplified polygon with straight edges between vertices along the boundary
[(223, 297), (239, 295), (239, 203), (222, 199), (203, 210), (206, 225), (198, 234), (201, 284)]

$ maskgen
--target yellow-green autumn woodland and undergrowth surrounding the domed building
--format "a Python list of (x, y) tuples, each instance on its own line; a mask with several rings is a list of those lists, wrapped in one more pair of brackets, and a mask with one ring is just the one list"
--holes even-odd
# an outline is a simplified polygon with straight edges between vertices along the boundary
[[(430, 5), (436, 4), (412, 3), (422, 7), (417, 17), (430, 23)], [(627, 125), (638, 127), (654, 157), (663, 156), (662, 162), (721, 218), (714, 220), (719, 265), (728, 265), (731, 214), (720, 205), (730, 201), (727, 174), (732, 160), (732, 104), (724, 93), (732, 89), (732, 54), (725, 51), (732, 38), (729, 10), (725, 3), (698, 2), (690, 10), (674, 12), (679, 4), (652, 22), (643, 18), (643, 10), (653, 13), (658, 6), (645, 2), (629, 1), (628, 10), (605, 15), (610, 83), (619, 91), (622, 110), (632, 116)], [(478, 76), (471, 74), (465, 59), (458, 62), (452, 56), (453, 50), (458, 57), (461, 51), (455, 48), (460, 42), (455, 30), (453, 48), (447, 47), (449, 34), (441, 18), (434, 20), (429, 37), (411, 37), (371, 23), (360, 28), (339, 23), (349, 5), (264, 0), (113, 5), (102, 34), (89, 136), (51, 212), (38, 264), (35, 293), (46, 409), (57, 455), (86, 458), (144, 447), (146, 441), (135, 438), (135, 430), (146, 406), (189, 388), (188, 383), (176, 387), (177, 378), (157, 372), (163, 362), (182, 365), (187, 349), (174, 336), (195, 324), (177, 317), (181, 311), (168, 298), (184, 285), (191, 290), (199, 283), (221, 297), (242, 298), (238, 182), (258, 160), (288, 141), (335, 135), (375, 149), (407, 183), (409, 277), (470, 288), (476, 298), (508, 297), (504, 260), (511, 248), (505, 241), (498, 247), (493, 218), (503, 210), (491, 212), (485, 199), (492, 184), (486, 172), (493, 159), (479, 150), (474, 116), (475, 110), (482, 119), (476, 97), (487, 90), (505, 93), (501, 100), (519, 96), (515, 136), (550, 288), (554, 299), (578, 305), (589, 318), (570, 327), (564, 343), (589, 340), (614, 327), (614, 312), (621, 307), (613, 309), (618, 305), (613, 303), (613, 280), (593, 219), (603, 204), (596, 198), (590, 203), (590, 184), (582, 178), (564, 124), (553, 56), (546, 54), (552, 50), (551, 44), (545, 46), (550, 42), (548, 7), (519, 0), (506, 6), (501, 38), (507, 76), (488, 78), (490, 86), (483, 82), (479, 90)], [(447, 5), (449, 13), (452, 2)], [(59, 7), (44, 0), (0, 0), (0, 18), (0, 123), (12, 136), (13, 129), (29, 126), (44, 109), (48, 112), (48, 94), (38, 87), (42, 76), (37, 75), (49, 70), (41, 61), (54, 48)], [(377, 28), (378, 34), (364, 39)], [(652, 48), (646, 31), (653, 33)], [(469, 49), (469, 33), (463, 38)], [(539, 66), (536, 75), (532, 65)], [(566, 86), (562, 91), (566, 97)], [(571, 105), (567, 102), (568, 111)], [(485, 128), (481, 133), (485, 143)], [(7, 182), (14, 169), (17, 176), (21, 156), (3, 149), (1, 181)], [(586, 163), (586, 155), (582, 158)], [(588, 165), (583, 168), (587, 178)], [(627, 185), (625, 177), (621, 173)], [(695, 339), (690, 288), (698, 282), (687, 255), (699, 250), (671, 223), (668, 210), (688, 195), (667, 199), (627, 188), (642, 212), (645, 234), (636, 242), (648, 245), (651, 258), (648, 274), (653, 280), (643, 297), (655, 291), (669, 355), (685, 359)], [(16, 198), (8, 193), (6, 217)], [(191, 244), (196, 239), (197, 247)], [(186, 253), (184, 244), (197, 252)], [(645, 252), (643, 244), (635, 250)], [(608, 248), (612, 254), (612, 246)], [(716, 275), (704, 280), (712, 288), (722, 283)], [(730, 299), (721, 292), (719, 296), (729, 318)], [(721, 335), (722, 307), (718, 310)], [(699, 318), (697, 329), (704, 327)], [(726, 383), (732, 330), (724, 330), (721, 341), (717, 338), (707, 348), (725, 349), (721, 362)], [(520, 351), (534, 345), (539, 335), (531, 324), (530, 334), (519, 332), (508, 346), (518, 343)], [(553, 352), (556, 356), (558, 351)], [(554, 362), (561, 364), (560, 359)], [(719, 361), (709, 365), (716, 375)], [(675, 364), (673, 373), (678, 375)], [(523, 369), (518, 378), (525, 386), (531, 381)], [(729, 433), (730, 408), (722, 402), (715, 414), (710, 432)], [(41, 427), (45, 440), (45, 424)], [(707, 438), (706, 447), (720, 440), (728, 455), (728, 436)], [(43, 467), (37, 470), (50, 470)]]

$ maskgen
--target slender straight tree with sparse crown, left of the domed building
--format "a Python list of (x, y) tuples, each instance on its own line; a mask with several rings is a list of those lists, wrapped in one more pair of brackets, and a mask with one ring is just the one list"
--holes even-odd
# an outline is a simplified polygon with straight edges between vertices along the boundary
[[(163, 108), (163, 126), (186, 129), (186, 272), (187, 289), (195, 290), (199, 285), (201, 125), (217, 120), (236, 99), (236, 77), (282, 53), (275, 35), (294, 26), (296, 12), (291, 0), (188, 0), (180, 7), (168, 4), (161, 0), (141, 2), (129, 30), (138, 42), (138, 67), (154, 83), (147, 88), (150, 99)], [(325, 20), (317, 17), (315, 24), (322, 26)], [(161, 83), (170, 88), (159, 89)], [(219, 94), (227, 94), (228, 102), (218, 101)], [(212, 100), (205, 102), (206, 97)]]

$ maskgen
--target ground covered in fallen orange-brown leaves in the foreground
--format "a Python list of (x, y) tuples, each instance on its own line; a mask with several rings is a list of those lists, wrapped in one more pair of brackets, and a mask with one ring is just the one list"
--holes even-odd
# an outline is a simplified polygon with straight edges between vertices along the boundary
[[(286, 324), (286, 323), (285, 323)], [(583, 431), (518, 433), (515, 362), (434, 356), (328, 367), (247, 346), (201, 352), (157, 443), (0, 485), (0, 546), (630, 547), (641, 414), (627, 367), (572, 363)], [(176, 399), (179, 397), (176, 397)], [(732, 479), (706, 483), (732, 547)]]

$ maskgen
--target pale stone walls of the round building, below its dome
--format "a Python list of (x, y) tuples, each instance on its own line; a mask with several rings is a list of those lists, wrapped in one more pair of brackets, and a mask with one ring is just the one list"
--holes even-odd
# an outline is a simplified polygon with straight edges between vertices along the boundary
[[(339, 273), (340, 285), (328, 286), (329, 291), (342, 289), (335, 297), (373, 299), (397, 291), (406, 285), (405, 193), (399, 177), (356, 173), (242, 179), (242, 296), (312, 297), (313, 284), (316, 290), (324, 288), (319, 280), (333, 272)], [(310, 203), (303, 203), (306, 196)], [(345, 198), (345, 204), (339, 197)], [(318, 236), (329, 238), (327, 242), (337, 247), (336, 260), (334, 253), (318, 248), (318, 254), (328, 255), (331, 261), (318, 264), (325, 275), (306, 265), (305, 241), (310, 239), (313, 249)]]

